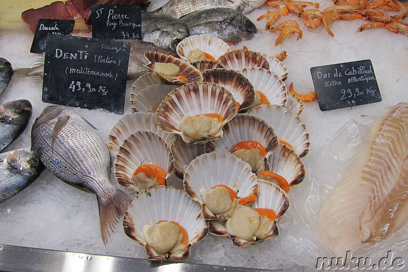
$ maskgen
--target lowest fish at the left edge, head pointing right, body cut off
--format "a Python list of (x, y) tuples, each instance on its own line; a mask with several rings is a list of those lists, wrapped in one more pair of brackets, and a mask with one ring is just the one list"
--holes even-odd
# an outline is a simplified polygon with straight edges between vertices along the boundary
[(0, 203), (27, 188), (44, 165), (30, 147), (0, 154)]

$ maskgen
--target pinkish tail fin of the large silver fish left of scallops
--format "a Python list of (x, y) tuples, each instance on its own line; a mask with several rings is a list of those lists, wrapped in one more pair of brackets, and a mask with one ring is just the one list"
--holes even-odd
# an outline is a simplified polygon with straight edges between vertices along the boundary
[(100, 235), (104, 244), (106, 244), (118, 219), (132, 203), (133, 197), (125, 194), (116, 187), (113, 187), (109, 194), (96, 196), (99, 205)]

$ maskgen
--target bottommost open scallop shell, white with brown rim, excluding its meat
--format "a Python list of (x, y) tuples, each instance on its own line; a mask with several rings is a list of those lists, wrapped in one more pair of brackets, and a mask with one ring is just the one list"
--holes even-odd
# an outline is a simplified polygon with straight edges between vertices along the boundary
[[(146, 242), (143, 227), (158, 221), (179, 223), (188, 234), (185, 251), (176, 255), (158, 254)], [(127, 236), (143, 245), (149, 259), (181, 260), (190, 254), (191, 246), (208, 234), (209, 223), (202, 217), (200, 206), (183, 190), (158, 186), (139, 193), (123, 216)]]

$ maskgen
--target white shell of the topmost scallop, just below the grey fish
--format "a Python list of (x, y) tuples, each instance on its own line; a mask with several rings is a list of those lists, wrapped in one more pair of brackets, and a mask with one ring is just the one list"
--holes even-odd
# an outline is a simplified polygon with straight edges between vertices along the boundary
[(195, 49), (210, 54), (214, 59), (218, 59), (220, 56), (231, 51), (230, 46), (220, 38), (209, 34), (202, 34), (192, 35), (183, 39), (177, 44), (176, 52), (180, 58), (190, 62), (187, 59), (188, 53)]

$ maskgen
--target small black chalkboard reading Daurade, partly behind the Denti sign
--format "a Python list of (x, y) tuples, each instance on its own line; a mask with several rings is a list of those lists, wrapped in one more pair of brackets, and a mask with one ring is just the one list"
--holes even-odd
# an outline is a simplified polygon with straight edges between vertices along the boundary
[(37, 30), (31, 44), (31, 53), (42, 54), (45, 52), (45, 44), (48, 34), (67, 35), (72, 34), (75, 20), (40, 19)]

